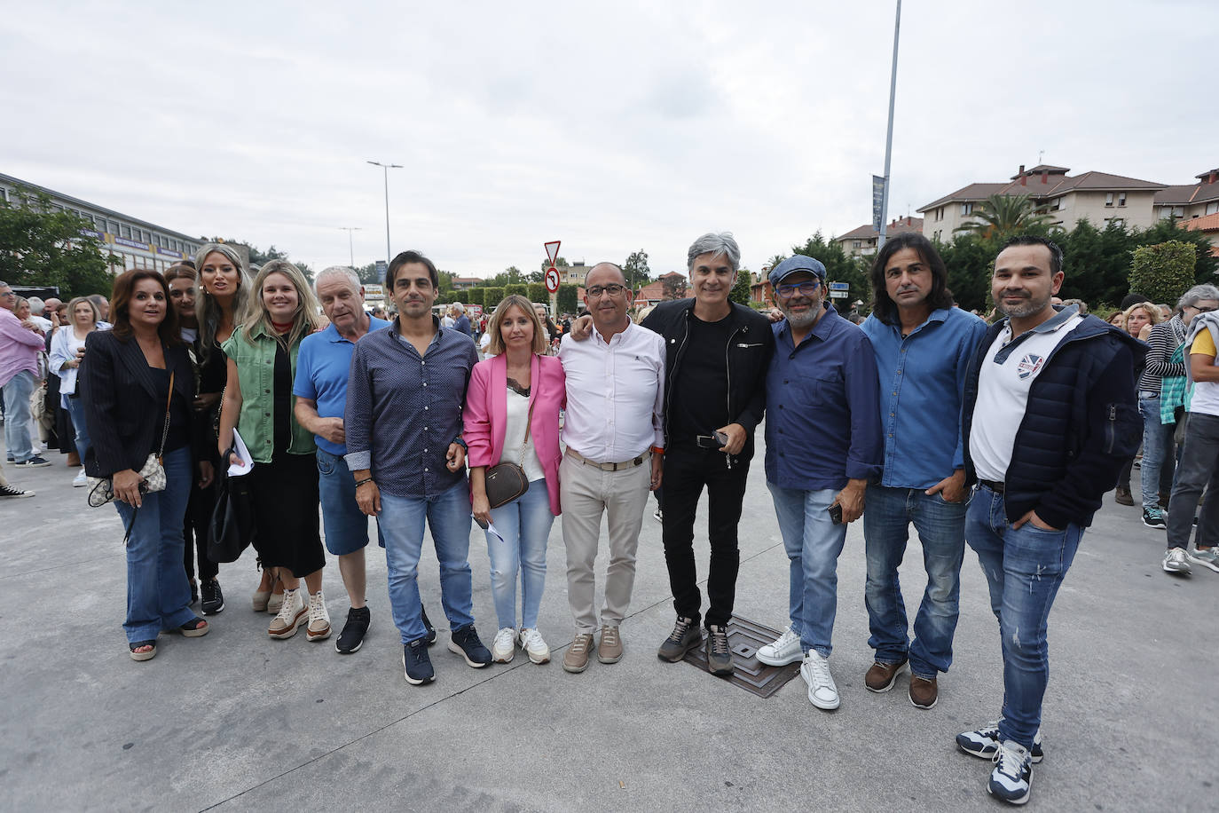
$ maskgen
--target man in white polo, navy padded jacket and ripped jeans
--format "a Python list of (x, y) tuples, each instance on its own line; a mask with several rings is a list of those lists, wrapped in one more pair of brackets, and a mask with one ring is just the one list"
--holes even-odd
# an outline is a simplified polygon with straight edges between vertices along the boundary
[(1146, 345), (1075, 306), (1051, 305), (1062, 282), (1057, 245), (1007, 243), (991, 290), (1008, 318), (991, 325), (970, 361), (962, 414), (965, 475), (978, 486), (965, 541), (1000, 623), (1003, 712), (957, 745), (993, 757), (987, 790), (1018, 804), (1042, 756), (1050, 608), (1142, 434), (1135, 380)]

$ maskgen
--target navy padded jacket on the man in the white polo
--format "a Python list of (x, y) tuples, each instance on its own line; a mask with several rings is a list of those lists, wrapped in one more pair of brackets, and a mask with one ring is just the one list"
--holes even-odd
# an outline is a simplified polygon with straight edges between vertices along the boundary
[[(969, 431), (978, 377), (1006, 321), (986, 332), (969, 362), (962, 414), (965, 477), (976, 480)], [(1147, 345), (1087, 316), (1046, 358), (1029, 390), (1004, 480), (1008, 522), (1030, 509), (1053, 528), (1086, 528), (1142, 440), (1135, 380)]]

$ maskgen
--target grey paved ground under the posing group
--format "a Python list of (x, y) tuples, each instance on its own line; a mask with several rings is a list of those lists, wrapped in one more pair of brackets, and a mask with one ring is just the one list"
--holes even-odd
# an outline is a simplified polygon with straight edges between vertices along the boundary
[[(85, 507), (63, 457), (54, 460), (48, 469), (7, 469), (38, 496), (0, 502), (9, 562), (0, 577), (0, 809), (1002, 807), (985, 793), (990, 763), (958, 752), (952, 739), (992, 719), (1002, 697), (996, 622), (972, 552), (956, 663), (929, 712), (911, 706), (904, 678), (887, 695), (863, 687), (872, 651), (859, 523), (839, 567), (835, 713), (813, 708), (798, 678), (759, 700), (656, 658), (673, 611), (651, 518), (623, 624), (627, 656), (616, 666), (594, 662), (581, 675), (558, 663), (572, 635), (560, 522), (540, 623), (556, 656), (547, 666), (518, 655), (508, 666), (471, 669), (445, 651), (441, 631), (432, 651), (436, 683), (407, 685), (379, 551), (369, 556), (373, 628), (354, 656), (336, 655), (333, 640), (267, 637), (269, 617), (249, 608), (251, 551), (222, 568), (228, 607), (210, 635), (163, 635), (154, 661), (134, 663), (121, 629), (117, 516)], [(484, 550), (477, 531), (474, 611), (489, 642)], [(1047, 757), (1030, 808), (1219, 807), (1219, 573), (1170, 578), (1159, 569), (1162, 550), (1163, 533), (1112, 496), (1085, 536), (1051, 617)], [(924, 584), (917, 542), (907, 558), (913, 614)], [(741, 559), (737, 613), (784, 627), (787, 559), (761, 464), (751, 473)], [(440, 619), (434, 556), (421, 573)], [(341, 627), (347, 600), (333, 561), (325, 591)]]

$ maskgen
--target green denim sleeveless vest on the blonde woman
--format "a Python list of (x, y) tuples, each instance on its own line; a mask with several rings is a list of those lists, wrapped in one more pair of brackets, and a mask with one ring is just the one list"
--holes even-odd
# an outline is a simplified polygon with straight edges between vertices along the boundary
[[(269, 463), (274, 452), (274, 408), (275, 408), (275, 339), (263, 332), (262, 325), (255, 325), (251, 333), (252, 344), (245, 339), (245, 327), (238, 327), (221, 347), (224, 355), (236, 363), (238, 383), (241, 385), (241, 413), (238, 416), (238, 429), (241, 440), (250, 450), (255, 463)], [(296, 356), (301, 343), (289, 349), (291, 362), (291, 380), (296, 380)], [(291, 386), (291, 382), (289, 382)], [(295, 396), (289, 399), (295, 405)], [(317, 444), (313, 433), (296, 423), (296, 416), (289, 414), (291, 442), (288, 452), (291, 455), (313, 455)], [(280, 450), (283, 451), (283, 450)]]

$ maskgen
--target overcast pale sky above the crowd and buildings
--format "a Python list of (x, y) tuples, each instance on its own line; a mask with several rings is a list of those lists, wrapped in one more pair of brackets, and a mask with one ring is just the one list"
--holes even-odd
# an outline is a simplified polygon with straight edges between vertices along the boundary
[[(903, 5), (891, 216), (1018, 165), (1219, 166), (1219, 4)], [(315, 269), (649, 254), (758, 269), (872, 218), (892, 0), (0, 2), (0, 172)]]

